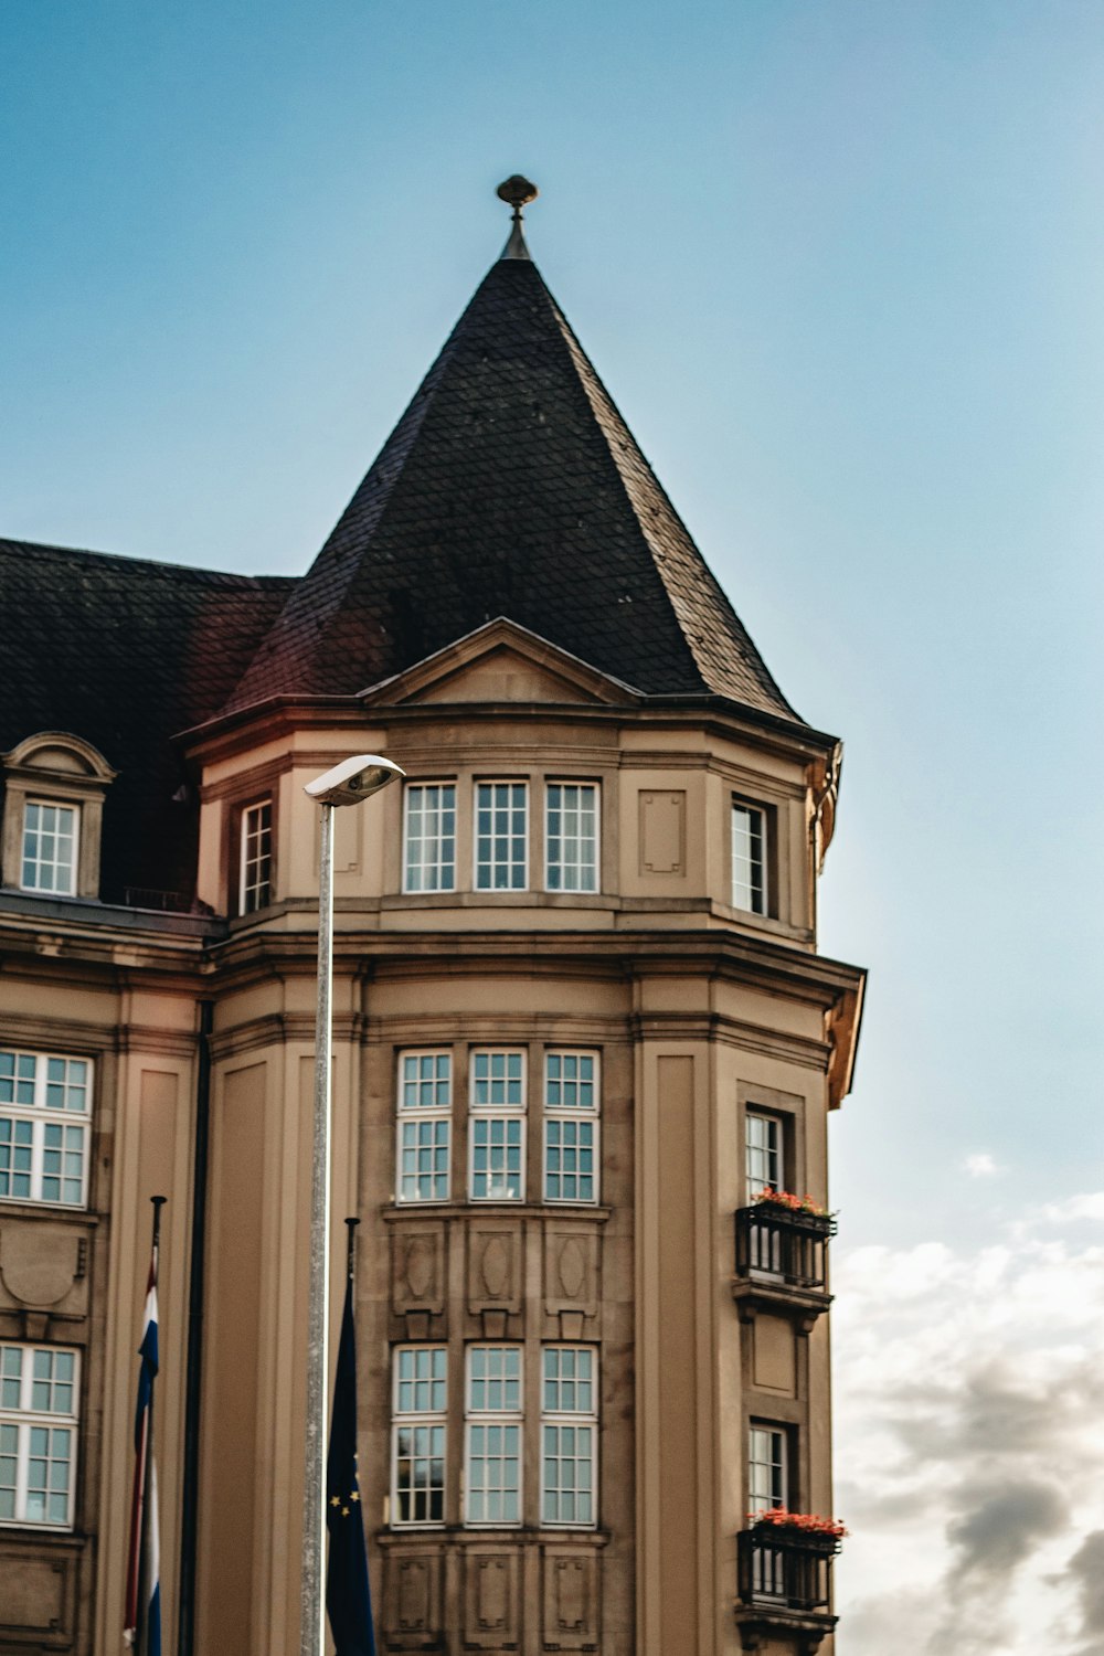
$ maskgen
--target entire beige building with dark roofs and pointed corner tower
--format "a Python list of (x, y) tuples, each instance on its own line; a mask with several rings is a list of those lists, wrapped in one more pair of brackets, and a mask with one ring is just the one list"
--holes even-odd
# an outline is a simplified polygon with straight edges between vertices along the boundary
[(306, 576), (0, 583), (0, 1653), (121, 1648), (154, 1192), (166, 1644), (298, 1651), (303, 785), (381, 752), (334, 942), (379, 1648), (828, 1656), (834, 1540), (755, 1514), (831, 1514), (839, 744), (520, 222)]

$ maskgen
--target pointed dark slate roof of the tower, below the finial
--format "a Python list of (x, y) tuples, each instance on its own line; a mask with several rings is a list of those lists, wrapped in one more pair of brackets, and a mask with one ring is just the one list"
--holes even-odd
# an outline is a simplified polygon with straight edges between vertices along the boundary
[(356, 694), (497, 616), (796, 719), (516, 229), (228, 709)]

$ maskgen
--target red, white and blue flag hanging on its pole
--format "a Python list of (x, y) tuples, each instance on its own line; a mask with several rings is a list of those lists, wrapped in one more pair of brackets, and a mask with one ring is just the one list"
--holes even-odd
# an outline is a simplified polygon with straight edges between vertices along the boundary
[(154, 1247), (146, 1282), (146, 1317), (137, 1355), (134, 1411), (134, 1492), (131, 1555), (126, 1577), (122, 1638), (137, 1656), (161, 1656), (161, 1533), (157, 1527), (157, 1466), (154, 1462), (154, 1379), (157, 1378), (157, 1252), (162, 1196), (154, 1197)]

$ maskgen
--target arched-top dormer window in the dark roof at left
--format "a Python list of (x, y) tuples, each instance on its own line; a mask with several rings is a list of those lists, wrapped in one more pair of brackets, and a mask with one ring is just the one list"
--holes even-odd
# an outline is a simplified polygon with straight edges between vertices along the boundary
[(91, 742), (41, 730), (3, 757), (3, 884), (36, 898), (99, 896), (99, 833), (114, 770)]

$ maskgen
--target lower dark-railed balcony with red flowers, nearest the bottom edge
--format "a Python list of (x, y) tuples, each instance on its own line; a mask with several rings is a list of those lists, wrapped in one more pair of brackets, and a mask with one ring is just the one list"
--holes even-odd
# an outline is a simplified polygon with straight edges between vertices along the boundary
[(737, 1623), (745, 1649), (781, 1633), (811, 1653), (836, 1626), (831, 1613), (836, 1535), (756, 1524), (737, 1537), (740, 1598)]

